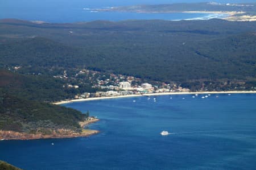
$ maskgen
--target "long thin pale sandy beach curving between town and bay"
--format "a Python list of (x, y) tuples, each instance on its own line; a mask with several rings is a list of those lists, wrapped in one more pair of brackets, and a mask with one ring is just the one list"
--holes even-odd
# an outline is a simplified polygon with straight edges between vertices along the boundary
[(182, 95), (182, 94), (236, 94), (236, 93), (256, 93), (256, 91), (226, 91), (226, 92), (168, 92), (168, 93), (148, 93), (148, 94), (131, 94), (126, 96), (109, 96), (109, 97), (93, 97), (82, 99), (71, 99), (69, 101), (54, 102), (54, 105), (62, 105), (72, 102), (94, 101), (100, 99), (114, 99), (114, 98), (127, 98), (127, 97), (140, 97), (140, 96), (163, 96), (163, 95)]

